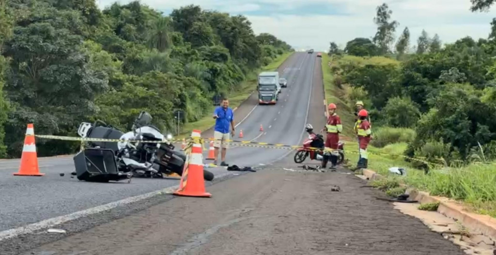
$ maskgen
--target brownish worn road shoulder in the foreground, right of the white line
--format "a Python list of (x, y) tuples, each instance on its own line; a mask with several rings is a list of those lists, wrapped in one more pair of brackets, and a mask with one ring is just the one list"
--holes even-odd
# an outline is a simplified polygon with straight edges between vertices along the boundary
[[(349, 172), (273, 167), (26, 254), (463, 254)], [(331, 191), (338, 185), (339, 192)]]

